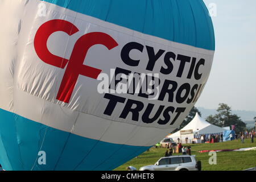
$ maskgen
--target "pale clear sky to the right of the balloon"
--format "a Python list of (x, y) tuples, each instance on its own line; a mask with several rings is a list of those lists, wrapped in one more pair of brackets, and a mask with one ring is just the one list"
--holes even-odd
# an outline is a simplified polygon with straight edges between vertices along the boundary
[[(256, 1), (204, 0), (212, 17), (216, 52), (209, 80), (197, 107), (256, 111)], [(214, 12), (214, 11), (212, 11)]]

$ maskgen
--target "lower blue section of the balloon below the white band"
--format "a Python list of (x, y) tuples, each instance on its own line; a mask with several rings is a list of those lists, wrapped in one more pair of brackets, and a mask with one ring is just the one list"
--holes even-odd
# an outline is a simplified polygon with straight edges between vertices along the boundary
[[(0, 109), (0, 163), (7, 171), (112, 170), (148, 148), (80, 137)], [(38, 164), (39, 151), (46, 165)]]

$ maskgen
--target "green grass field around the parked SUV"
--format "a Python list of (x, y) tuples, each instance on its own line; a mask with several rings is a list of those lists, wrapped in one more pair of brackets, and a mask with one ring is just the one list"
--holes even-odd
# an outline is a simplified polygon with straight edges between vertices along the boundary
[[(186, 144), (184, 144), (186, 146)], [(245, 143), (240, 140), (229, 141), (224, 143), (204, 143), (191, 144), (192, 155), (196, 155), (197, 160), (202, 162), (203, 171), (240, 171), (243, 169), (256, 167), (256, 151), (233, 151), (233, 152), (217, 152), (217, 164), (209, 164), (209, 153), (199, 153), (200, 150), (224, 150), (224, 149), (239, 149), (247, 147), (256, 147), (256, 143), (251, 143), (250, 139), (246, 139)], [(134, 158), (119, 166), (115, 171), (125, 171), (126, 167), (134, 166), (139, 169), (142, 166), (155, 164), (159, 158), (163, 157), (166, 148), (150, 148), (149, 152), (144, 152), (138, 158)], [(177, 154), (174, 154), (177, 155)]]

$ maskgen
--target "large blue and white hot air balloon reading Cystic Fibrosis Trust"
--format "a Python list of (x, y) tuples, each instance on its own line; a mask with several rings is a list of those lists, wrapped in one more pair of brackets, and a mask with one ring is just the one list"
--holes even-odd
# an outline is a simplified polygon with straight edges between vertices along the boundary
[[(212, 67), (202, 0), (2, 0), (0, 17), (5, 170), (112, 170), (180, 125)], [(154, 92), (117, 92), (133, 73)]]

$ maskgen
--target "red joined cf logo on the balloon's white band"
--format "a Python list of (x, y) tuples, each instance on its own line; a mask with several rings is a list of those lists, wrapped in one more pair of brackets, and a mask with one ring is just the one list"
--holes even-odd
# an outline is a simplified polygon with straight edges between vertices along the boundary
[(102, 44), (110, 50), (117, 47), (118, 43), (115, 42), (111, 36), (102, 32), (85, 34), (77, 40), (71, 57), (67, 60), (63, 57), (53, 55), (47, 48), (47, 40), (49, 36), (57, 31), (63, 31), (71, 36), (78, 32), (79, 29), (74, 24), (65, 20), (50, 20), (49, 22), (42, 24), (36, 32), (34, 46), (37, 55), (44, 61), (44, 63), (62, 69), (68, 64), (56, 98), (59, 101), (68, 103), (79, 75), (97, 79), (102, 71), (101, 69), (84, 65), (84, 59), (89, 48), (96, 44)]

